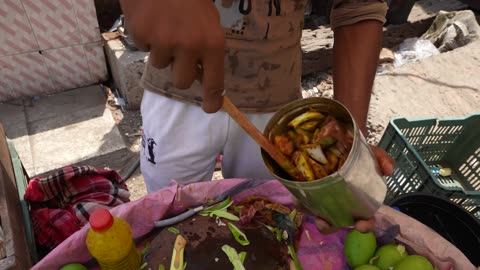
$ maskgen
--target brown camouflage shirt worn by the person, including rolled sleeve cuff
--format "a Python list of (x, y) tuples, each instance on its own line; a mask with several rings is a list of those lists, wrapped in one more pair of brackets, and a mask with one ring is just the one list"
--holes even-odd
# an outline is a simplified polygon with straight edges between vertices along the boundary
[[(315, 1), (315, 0), (313, 0)], [(225, 90), (244, 112), (273, 112), (301, 98), (300, 40), (306, 0), (214, 0), (225, 30)], [(384, 0), (334, 0), (332, 28), (385, 21)], [(170, 68), (147, 63), (142, 87), (200, 105), (201, 84), (176, 89)]]

